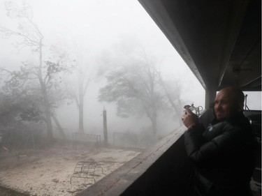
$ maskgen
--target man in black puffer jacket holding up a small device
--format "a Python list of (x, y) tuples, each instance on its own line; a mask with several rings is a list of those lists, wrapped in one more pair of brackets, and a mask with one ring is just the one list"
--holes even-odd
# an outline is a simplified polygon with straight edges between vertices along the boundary
[(242, 108), (245, 96), (235, 87), (221, 89), (208, 128), (187, 109), (182, 116), (187, 155), (196, 166), (196, 195), (249, 196), (254, 170), (254, 137)]

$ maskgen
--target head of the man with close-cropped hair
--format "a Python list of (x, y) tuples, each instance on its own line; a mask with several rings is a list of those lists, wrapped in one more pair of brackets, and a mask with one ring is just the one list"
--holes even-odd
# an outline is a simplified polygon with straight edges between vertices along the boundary
[(244, 107), (245, 96), (233, 86), (221, 89), (214, 99), (214, 114), (218, 120), (231, 118)]

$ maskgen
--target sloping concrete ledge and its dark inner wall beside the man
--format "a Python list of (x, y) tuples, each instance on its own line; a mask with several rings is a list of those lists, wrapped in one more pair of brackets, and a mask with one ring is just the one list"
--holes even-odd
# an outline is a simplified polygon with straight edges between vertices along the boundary
[[(187, 159), (184, 150), (182, 150), (184, 146), (182, 135), (185, 129), (184, 126), (177, 128), (157, 144), (119, 167), (115, 172), (79, 193), (78, 196), (158, 195), (162, 190), (162, 188), (156, 187), (159, 185), (166, 186), (165, 190), (168, 192), (173, 190), (175, 186), (172, 184), (176, 184), (173, 180), (177, 177), (180, 178), (177, 176), (177, 172), (180, 173), (183, 170), (181, 170), (181, 166), (188, 165), (184, 164), (187, 163)], [(180, 142), (177, 142), (178, 140)], [(191, 171), (188, 168), (185, 170)], [(188, 181), (188, 175), (184, 175), (184, 178)], [(161, 191), (161, 193), (163, 192)]]

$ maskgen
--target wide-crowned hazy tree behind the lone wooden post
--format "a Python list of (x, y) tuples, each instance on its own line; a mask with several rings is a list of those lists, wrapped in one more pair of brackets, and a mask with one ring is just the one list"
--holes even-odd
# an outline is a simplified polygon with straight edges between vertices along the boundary
[(108, 84), (100, 90), (99, 100), (117, 103), (117, 114), (146, 114), (157, 133), (157, 111), (161, 108), (161, 93), (155, 69), (150, 65), (122, 67), (107, 76)]

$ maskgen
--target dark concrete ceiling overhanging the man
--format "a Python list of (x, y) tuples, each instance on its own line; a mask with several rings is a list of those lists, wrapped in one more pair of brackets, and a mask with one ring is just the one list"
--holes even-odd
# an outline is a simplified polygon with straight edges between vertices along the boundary
[(208, 91), (261, 91), (261, 0), (138, 0)]

